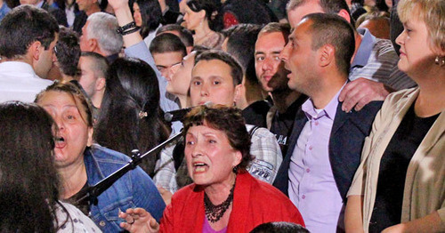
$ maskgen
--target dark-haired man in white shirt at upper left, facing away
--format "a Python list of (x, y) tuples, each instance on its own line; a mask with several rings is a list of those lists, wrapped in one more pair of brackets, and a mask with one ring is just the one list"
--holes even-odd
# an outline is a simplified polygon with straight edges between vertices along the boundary
[(42, 9), (21, 5), (0, 24), (0, 102), (32, 102), (52, 84), (45, 80), (53, 67), (59, 34), (57, 21)]

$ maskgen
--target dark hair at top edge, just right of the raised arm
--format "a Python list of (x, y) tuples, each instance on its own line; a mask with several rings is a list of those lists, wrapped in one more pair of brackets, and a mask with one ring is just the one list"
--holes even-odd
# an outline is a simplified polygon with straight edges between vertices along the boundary
[[(145, 38), (150, 32), (156, 30), (159, 24), (164, 22), (162, 10), (158, 0), (136, 0), (134, 3), (139, 5), (142, 18), (141, 36)], [(132, 8), (132, 7), (130, 7)]]

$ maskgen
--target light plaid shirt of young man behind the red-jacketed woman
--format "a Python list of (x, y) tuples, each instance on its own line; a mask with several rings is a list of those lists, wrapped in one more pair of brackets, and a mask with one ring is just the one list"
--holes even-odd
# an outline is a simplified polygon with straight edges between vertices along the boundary
[[(246, 125), (250, 132), (254, 125)], [(260, 181), (272, 183), (278, 173), (279, 165), (283, 161), (279, 144), (275, 135), (266, 128), (257, 128), (252, 135), (252, 146), (250, 154), (255, 157), (249, 165), (247, 171)], [(161, 151), (160, 158), (156, 163), (155, 177), (153, 181), (160, 186), (174, 193), (179, 187), (176, 181), (176, 170), (174, 169), (173, 150), (176, 144), (170, 144)], [(185, 160), (182, 160), (185, 163)]]

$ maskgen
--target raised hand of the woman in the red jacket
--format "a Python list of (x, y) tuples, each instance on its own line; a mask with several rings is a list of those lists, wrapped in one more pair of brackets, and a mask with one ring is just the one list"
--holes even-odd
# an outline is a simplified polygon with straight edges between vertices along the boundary
[(119, 218), (126, 221), (121, 222), (120, 227), (131, 233), (156, 233), (159, 231), (158, 222), (142, 208), (127, 209), (125, 213), (119, 213)]

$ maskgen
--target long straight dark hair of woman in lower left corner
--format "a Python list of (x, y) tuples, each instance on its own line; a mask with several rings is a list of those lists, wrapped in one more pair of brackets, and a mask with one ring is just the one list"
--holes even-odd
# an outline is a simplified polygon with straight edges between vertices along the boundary
[(58, 220), (56, 214), (57, 205), (63, 206), (53, 119), (36, 104), (11, 101), (0, 104), (0, 123), (0, 231), (56, 232), (69, 215)]

